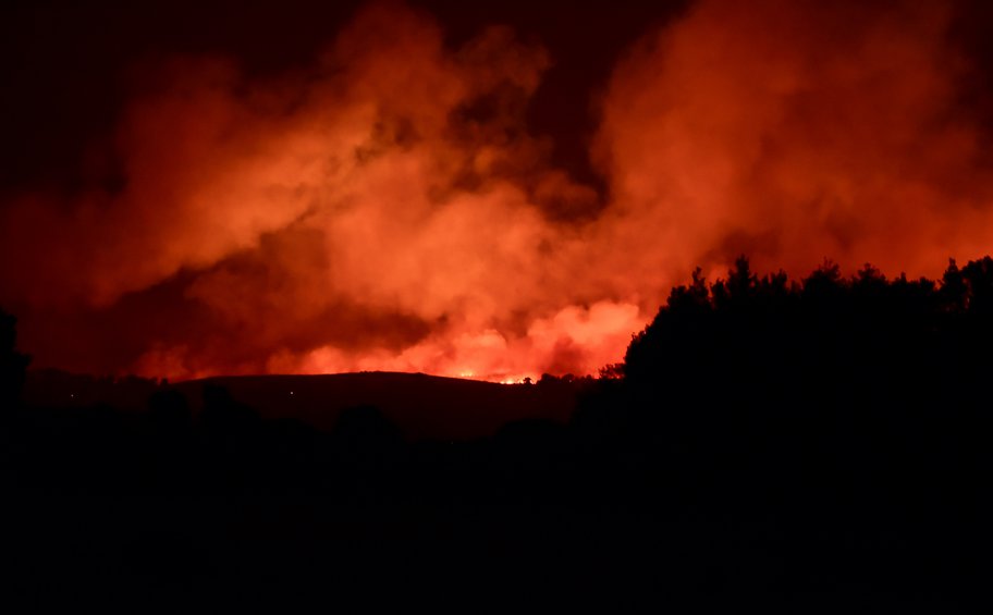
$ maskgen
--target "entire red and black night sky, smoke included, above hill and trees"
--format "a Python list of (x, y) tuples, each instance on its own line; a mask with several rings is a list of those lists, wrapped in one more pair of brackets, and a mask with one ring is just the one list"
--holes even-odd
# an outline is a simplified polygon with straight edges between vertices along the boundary
[(0, 24), (0, 306), (36, 367), (594, 373), (696, 266), (993, 251), (985, 2), (8, 1)]

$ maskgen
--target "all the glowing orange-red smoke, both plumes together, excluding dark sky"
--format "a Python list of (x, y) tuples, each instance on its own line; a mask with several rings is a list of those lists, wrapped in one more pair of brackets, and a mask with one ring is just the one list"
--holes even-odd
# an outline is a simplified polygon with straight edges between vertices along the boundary
[(148, 331), (121, 371), (515, 380), (620, 360), (697, 265), (934, 275), (990, 251), (947, 9), (821, 4), (703, 1), (639, 41), (600, 106), (606, 202), (525, 131), (550, 59), (511, 32), (452, 52), (372, 7), (306, 74), (175, 59), (120, 122), (122, 190), (4, 208), (0, 300), (103, 309), (183, 273), (226, 333)]

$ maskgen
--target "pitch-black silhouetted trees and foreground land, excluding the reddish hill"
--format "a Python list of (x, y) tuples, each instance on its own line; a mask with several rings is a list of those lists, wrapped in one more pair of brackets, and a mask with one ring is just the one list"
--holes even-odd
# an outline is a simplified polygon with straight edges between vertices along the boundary
[(142, 413), (19, 405), (0, 333), (5, 582), (36, 606), (988, 606), (989, 257), (937, 282), (697, 271), (600, 379), (520, 385), (578, 392), (568, 422), (465, 440), (368, 405), (260, 418), (210, 382)]

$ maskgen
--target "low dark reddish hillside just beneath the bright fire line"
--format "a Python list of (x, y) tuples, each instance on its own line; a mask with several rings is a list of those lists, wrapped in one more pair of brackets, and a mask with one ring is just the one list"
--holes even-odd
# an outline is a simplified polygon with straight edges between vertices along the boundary
[[(363, 372), (328, 376), (248, 376), (177, 382), (169, 388), (186, 396), (194, 413), (203, 408), (207, 385), (231, 396), (263, 418), (294, 418), (329, 430), (345, 408), (376, 406), (412, 440), (469, 439), (490, 435), (523, 419), (565, 422), (575, 408), (578, 386), (497, 384), (422, 373)], [(26, 404), (48, 408), (108, 405), (145, 409), (162, 389), (155, 381), (99, 379), (57, 371), (28, 372)]]

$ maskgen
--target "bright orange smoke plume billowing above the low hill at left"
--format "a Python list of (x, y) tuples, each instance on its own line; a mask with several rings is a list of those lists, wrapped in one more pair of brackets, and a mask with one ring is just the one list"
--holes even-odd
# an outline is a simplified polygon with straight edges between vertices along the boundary
[(548, 61), (502, 28), (449, 52), (429, 19), (377, 7), (306, 74), (156, 66), (114, 138), (122, 185), (7, 210), (4, 290), (100, 311), (183, 278), (185, 330), (127, 332), (147, 347), (118, 367), (149, 374), (596, 370), (638, 312), (588, 300), (562, 212), (596, 193), (523, 130)]

